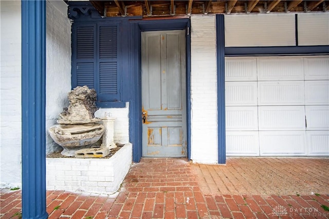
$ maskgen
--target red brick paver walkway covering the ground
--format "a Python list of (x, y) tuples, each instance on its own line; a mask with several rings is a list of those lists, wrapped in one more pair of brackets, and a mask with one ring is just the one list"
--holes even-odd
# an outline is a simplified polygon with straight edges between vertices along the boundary
[[(47, 212), (49, 218), (79, 219), (329, 218), (329, 159), (270, 159), (233, 158), (226, 166), (218, 166), (191, 164), (186, 159), (143, 158), (132, 165), (120, 192), (100, 195), (47, 191)], [(248, 171), (253, 167), (250, 163), (262, 167)], [(284, 163), (298, 167), (300, 172), (293, 167), (283, 169), (287, 168)], [(273, 177), (267, 178), (269, 170)], [(272, 182), (277, 179), (278, 184)], [(293, 194), (284, 194), (291, 192), (284, 189), (291, 181), (295, 181), (297, 192), (306, 188), (307, 193), (293, 190)], [(268, 194), (271, 187), (274, 192)], [(309, 188), (314, 194), (308, 192)], [(2, 189), (0, 209), (1, 218), (19, 218), (21, 191)]]

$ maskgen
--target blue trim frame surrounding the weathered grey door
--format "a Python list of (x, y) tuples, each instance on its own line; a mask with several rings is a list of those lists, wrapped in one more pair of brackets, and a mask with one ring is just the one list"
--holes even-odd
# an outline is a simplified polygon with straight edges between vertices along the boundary
[[(152, 20), (152, 21), (130, 21), (130, 72), (131, 72), (131, 102), (129, 119), (129, 137), (133, 142), (133, 161), (139, 162), (142, 156), (142, 121), (141, 121), (141, 31), (152, 30), (179, 30), (191, 29), (190, 19)], [(191, 96), (190, 96), (190, 72), (191, 72), (191, 34), (186, 36), (187, 54), (187, 148), (188, 159), (191, 156)]]

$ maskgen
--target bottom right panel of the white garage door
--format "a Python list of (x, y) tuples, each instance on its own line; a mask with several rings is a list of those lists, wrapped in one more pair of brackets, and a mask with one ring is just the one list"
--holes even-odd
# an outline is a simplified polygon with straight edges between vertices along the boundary
[(328, 131), (306, 131), (308, 155), (329, 155), (329, 132)]

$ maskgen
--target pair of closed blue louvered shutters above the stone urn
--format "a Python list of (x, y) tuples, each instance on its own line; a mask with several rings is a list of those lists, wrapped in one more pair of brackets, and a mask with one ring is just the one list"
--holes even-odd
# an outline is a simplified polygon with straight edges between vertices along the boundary
[(72, 88), (87, 85), (97, 92), (99, 107), (124, 107), (121, 102), (120, 22), (74, 23)]

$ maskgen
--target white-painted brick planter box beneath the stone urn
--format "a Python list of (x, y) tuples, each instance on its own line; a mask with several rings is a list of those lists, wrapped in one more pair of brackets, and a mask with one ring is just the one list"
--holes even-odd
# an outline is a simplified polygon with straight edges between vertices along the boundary
[(47, 190), (115, 193), (132, 163), (132, 144), (109, 159), (46, 158)]

